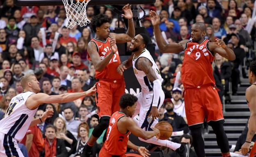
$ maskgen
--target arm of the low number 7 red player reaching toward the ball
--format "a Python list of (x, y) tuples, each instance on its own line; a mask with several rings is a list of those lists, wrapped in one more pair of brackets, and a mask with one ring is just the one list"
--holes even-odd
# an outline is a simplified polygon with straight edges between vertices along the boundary
[(154, 136), (157, 136), (158, 138), (160, 137), (160, 132), (157, 128), (154, 128), (153, 131), (144, 131), (139, 128), (139, 126), (137, 126), (133, 119), (131, 119), (130, 117), (121, 118), (119, 121), (121, 121), (121, 126), (123, 128), (130, 130), (133, 135), (141, 137), (142, 139), (147, 140), (151, 139)]

